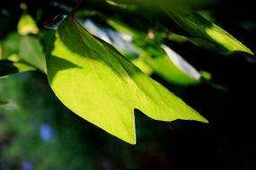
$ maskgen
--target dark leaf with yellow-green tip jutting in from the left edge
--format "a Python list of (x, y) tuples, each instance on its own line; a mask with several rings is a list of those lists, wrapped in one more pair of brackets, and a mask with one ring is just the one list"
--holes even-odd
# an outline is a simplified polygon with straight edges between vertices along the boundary
[(14, 63), (9, 60), (1, 60), (0, 61), (0, 77), (17, 73), (17, 72), (27, 72), (33, 71), (35, 68), (22, 63)]

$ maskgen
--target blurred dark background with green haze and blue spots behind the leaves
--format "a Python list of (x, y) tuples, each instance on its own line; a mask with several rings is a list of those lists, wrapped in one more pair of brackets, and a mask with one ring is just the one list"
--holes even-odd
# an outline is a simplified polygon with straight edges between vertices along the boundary
[[(75, 1), (1, 1), (1, 42), (16, 31), (24, 13), (21, 3), (27, 5), (26, 12), (40, 31), (47, 32), (44, 25), (58, 14), (69, 13)], [(79, 16), (96, 11), (107, 17), (126, 17), (128, 25), (130, 21), (133, 29), (143, 31), (154, 18), (149, 13), (153, 9), (143, 10), (128, 12), (105, 1), (84, 1)], [(223, 1), (199, 5), (196, 10), (211, 13), (216, 24), (256, 52), (252, 2)], [(132, 24), (134, 20), (141, 20), (141, 25)], [(49, 37), (40, 35), (46, 47)], [(216, 89), (206, 83), (183, 87), (152, 75), (205, 116), (208, 124), (156, 122), (136, 111), (137, 145), (132, 146), (71, 113), (53, 94), (45, 74), (22, 72), (0, 79), (0, 99), (9, 101), (0, 106), (0, 169), (256, 169), (255, 58), (220, 55), (190, 42), (165, 43), (225, 87)]]

